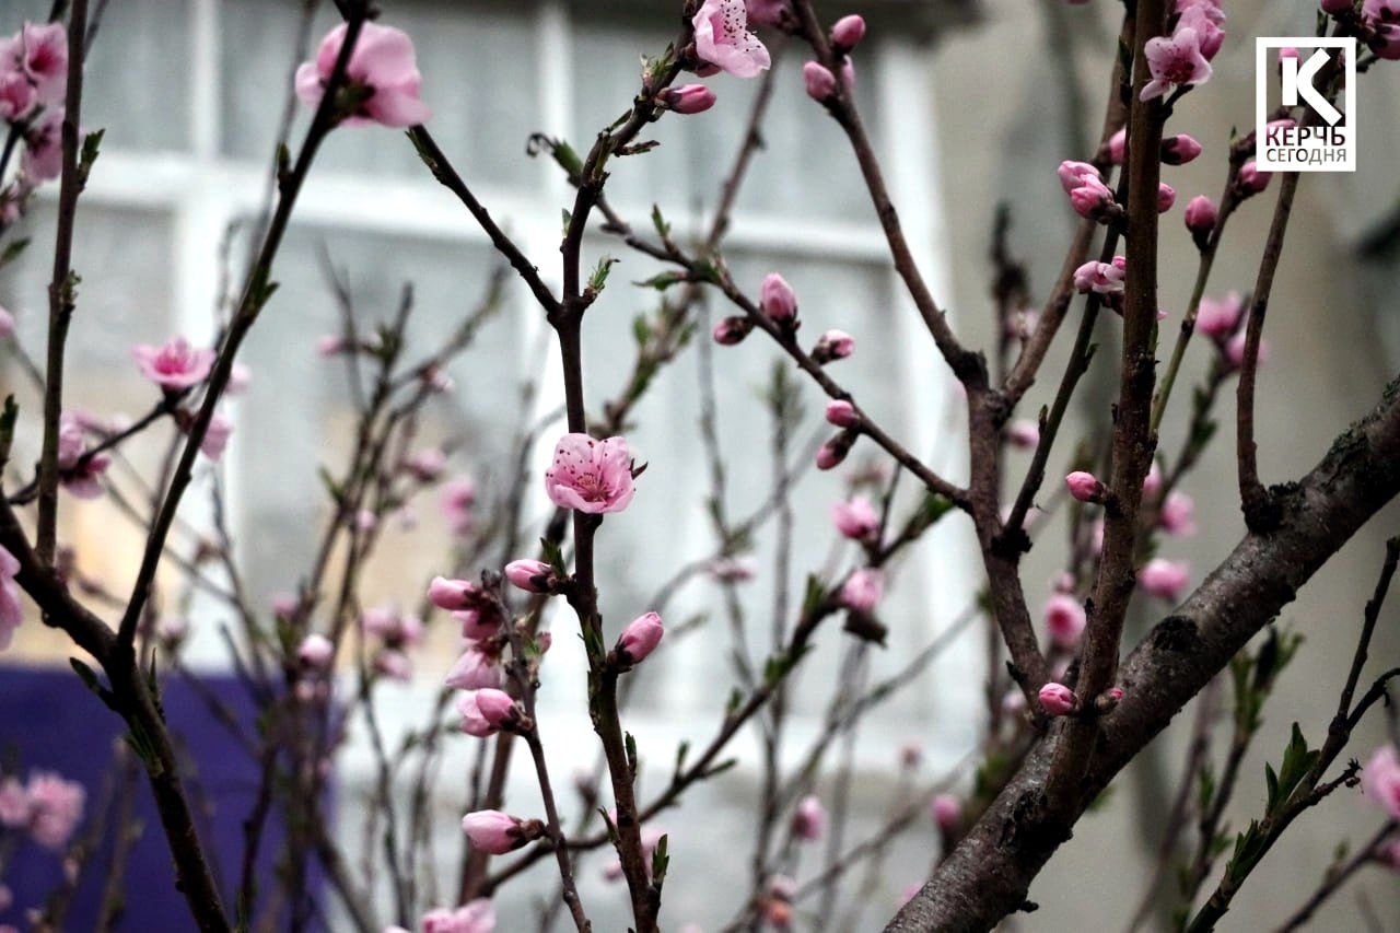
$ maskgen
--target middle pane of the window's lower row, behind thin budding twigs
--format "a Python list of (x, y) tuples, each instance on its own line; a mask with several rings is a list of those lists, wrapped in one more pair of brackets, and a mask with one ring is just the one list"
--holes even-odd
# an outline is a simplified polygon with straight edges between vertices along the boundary
[[(277, 293), (241, 353), (253, 375), (241, 412), (248, 433), (238, 447), (237, 464), (244, 544), (251, 545), (244, 558), (253, 591), (265, 597), (293, 590), (297, 584), (293, 574), (309, 567), (328, 516), (328, 497), (315, 468), (325, 465), (339, 475), (354, 443), (356, 415), (346, 359), (322, 357), (316, 352), (318, 338), (342, 332), (325, 255), (349, 283), (356, 324), (364, 336), (372, 335), (379, 322), (393, 319), (403, 286), (413, 283), (414, 311), (405, 364), (438, 349), (476, 308), (491, 268), (482, 247), (305, 226), (288, 233), (274, 270)], [(461, 451), (451, 461), (451, 472), (468, 462), (505, 462), (508, 441), (521, 419), (512, 391), (524, 360), (518, 325), (519, 315), (501, 308), (480, 329), (468, 353), (449, 367), (455, 388), (424, 409), (421, 444), (447, 441)], [(368, 370), (363, 367), (364, 373)], [(423, 496), (413, 504), (428, 518), (437, 510), (435, 493)], [(279, 548), (259, 548), (256, 541), (277, 541)], [(421, 595), (423, 567), (441, 562), (441, 541), (440, 535), (413, 534), (386, 544), (381, 553), (388, 555), (393, 567), (374, 577), (367, 594), (416, 601)], [(427, 546), (435, 551), (430, 555), (423, 551)]]

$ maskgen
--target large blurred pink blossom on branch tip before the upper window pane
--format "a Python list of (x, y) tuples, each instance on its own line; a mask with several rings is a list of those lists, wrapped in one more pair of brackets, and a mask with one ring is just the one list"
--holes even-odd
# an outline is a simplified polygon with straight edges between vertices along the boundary
[[(326, 92), (326, 83), (335, 70), (340, 46), (346, 41), (342, 22), (321, 41), (315, 62), (304, 62), (297, 69), (297, 97), (308, 106), (318, 106)], [(419, 99), (417, 60), (413, 41), (392, 27), (365, 22), (350, 63), (346, 66), (343, 98), (354, 101), (354, 109), (339, 115), (344, 126), (382, 123), (384, 126), (416, 126), (427, 122), (431, 111)]]

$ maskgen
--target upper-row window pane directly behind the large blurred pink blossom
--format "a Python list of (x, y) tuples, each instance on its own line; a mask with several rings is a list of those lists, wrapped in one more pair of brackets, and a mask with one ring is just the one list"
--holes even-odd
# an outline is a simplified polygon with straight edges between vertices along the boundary
[[(300, 13), (283, 0), (227, 0), (223, 8), (223, 101), (227, 154), (266, 160), (276, 140), (279, 112), (291, 91), (291, 70), (314, 55), (336, 24), (323, 4), (311, 31), (311, 50), (295, 48)], [(500, 3), (393, 3), (382, 18), (413, 39), (423, 99), (433, 108), (427, 126), (454, 164), (472, 179), (526, 185), (538, 177), (525, 158), (525, 141), (539, 126), (539, 81), (529, 7)], [(309, 109), (297, 105), (293, 140), (300, 140)], [(413, 147), (384, 129), (333, 133), (318, 157), (322, 170), (363, 171), (428, 179)]]

